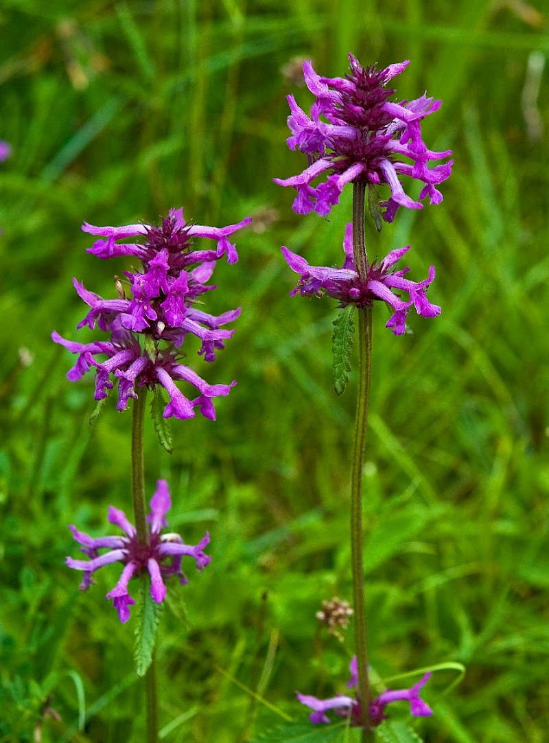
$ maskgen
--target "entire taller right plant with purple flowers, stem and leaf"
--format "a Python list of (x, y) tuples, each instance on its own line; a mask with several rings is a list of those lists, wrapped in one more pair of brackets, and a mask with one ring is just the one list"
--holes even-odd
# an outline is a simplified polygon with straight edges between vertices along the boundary
[[(358, 396), (355, 417), (353, 461), (351, 468), (351, 562), (354, 591), (355, 648), (351, 663), (351, 682), (356, 695), (340, 695), (327, 700), (298, 693), (298, 699), (313, 712), (314, 723), (329, 722), (327, 710), (346, 716), (349, 724), (360, 727), (363, 742), (371, 741), (374, 729), (386, 718), (386, 707), (393, 701), (409, 701), (412, 716), (429, 716), (430, 707), (419, 692), (430, 674), (409, 690), (386, 690), (374, 695), (368, 672), (366, 638), (362, 472), (368, 424), (371, 378), (371, 317), (374, 306), (384, 302), (390, 317), (386, 323), (394, 335), (406, 330), (406, 318), (412, 310), (426, 318), (441, 312), (427, 298), (435, 279), (435, 267), (419, 282), (406, 275), (407, 267), (397, 268), (409, 246), (392, 250), (379, 262), (370, 261), (365, 243), (365, 212), (380, 231), (383, 221), (392, 222), (400, 207), (421, 209), (423, 201), (440, 204), (440, 186), (449, 177), (450, 150), (434, 152), (423, 141), (421, 122), (441, 107), (440, 100), (426, 94), (415, 100), (394, 99), (389, 83), (402, 73), (409, 62), (389, 65), (382, 70), (363, 68), (349, 54), (350, 74), (328, 78), (317, 74), (311, 62), (303, 63), (305, 83), (314, 95), (310, 114), (288, 96), (290, 149), (307, 158), (305, 169), (290, 178), (275, 178), (281, 186), (296, 189), (293, 210), (298, 214), (316, 212), (328, 215), (338, 203), (342, 189), (353, 184), (352, 221), (345, 229), (341, 268), (311, 265), (302, 256), (282, 247), (282, 255), (299, 279), (293, 295), (322, 296), (335, 299), (340, 314), (334, 321), (335, 389), (343, 392), (350, 370), (350, 347), (354, 316), (358, 318)], [(432, 164), (436, 163), (436, 164)], [(404, 181), (420, 181), (417, 199), (406, 190)], [(408, 186), (406, 185), (406, 188)], [(380, 195), (386, 189), (386, 195)], [(366, 202), (366, 193), (368, 201)]]

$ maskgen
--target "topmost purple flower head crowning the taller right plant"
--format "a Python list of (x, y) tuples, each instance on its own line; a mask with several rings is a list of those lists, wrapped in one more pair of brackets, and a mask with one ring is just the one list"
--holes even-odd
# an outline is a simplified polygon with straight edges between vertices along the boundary
[[(394, 90), (386, 85), (409, 65), (408, 61), (378, 71), (374, 66), (363, 68), (352, 54), (349, 59), (351, 74), (333, 79), (320, 77), (311, 62), (303, 62), (305, 82), (316, 101), (309, 117), (293, 96), (288, 96), (291, 136), (287, 141), (290, 149), (307, 155), (309, 164), (300, 175), (275, 178), (275, 183), (297, 190), (293, 210), (298, 214), (313, 210), (319, 215), (328, 214), (339, 201), (343, 186), (362, 181), (389, 185), (391, 196), (381, 206), (386, 207), (383, 218), (391, 222), (399, 206), (422, 208), (420, 201), (403, 191), (401, 175), (423, 182), (420, 199), (429, 196), (431, 204), (440, 204), (442, 194), (435, 186), (449, 177), (452, 160), (433, 168), (429, 168), (429, 161), (447, 158), (452, 152), (427, 149), (420, 122), (438, 111), (441, 101), (425, 94), (401, 103), (389, 100)], [(402, 162), (402, 157), (412, 162)], [(324, 173), (329, 174), (328, 178), (311, 186)]]

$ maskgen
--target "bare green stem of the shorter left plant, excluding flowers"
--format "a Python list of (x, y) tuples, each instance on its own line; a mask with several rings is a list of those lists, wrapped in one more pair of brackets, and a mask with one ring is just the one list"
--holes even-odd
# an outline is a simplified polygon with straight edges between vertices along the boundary
[[(140, 387), (139, 397), (134, 400), (131, 418), (131, 496), (134, 502), (134, 519), (137, 539), (149, 544), (149, 528), (146, 520), (145, 466), (143, 464), (143, 423), (145, 420), (146, 387)], [(158, 743), (158, 691), (156, 681), (156, 654), (145, 674), (146, 696), (146, 743)]]

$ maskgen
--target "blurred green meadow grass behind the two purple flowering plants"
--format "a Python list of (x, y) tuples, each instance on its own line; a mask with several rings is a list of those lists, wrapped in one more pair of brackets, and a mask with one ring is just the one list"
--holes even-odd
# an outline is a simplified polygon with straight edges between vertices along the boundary
[(281, 715), (306, 722), (296, 690), (343, 691), (352, 631), (340, 643), (315, 613), (351, 597), (354, 381), (334, 395), (334, 318), (288, 296), (279, 248), (334, 264), (351, 201), (327, 221), (297, 217), (272, 178), (300, 158), (285, 145), (285, 95), (311, 104), (282, 69), (299, 57), (341, 75), (348, 51), (365, 65), (412, 60), (398, 96), (443, 100), (423, 130), (455, 160), (443, 204), (380, 238), (368, 227), (380, 255), (412, 244), (415, 274), (436, 266), (429, 298), (442, 306), (399, 338), (374, 316), (371, 663), (385, 679), (467, 666), (450, 690), (457, 672), (429, 682), (435, 715), (415, 722), (428, 743), (547, 740), (548, 31), (539, 0), (4, 2), (1, 743), (143, 739), (131, 621), (105, 601), (113, 576), (79, 594), (65, 567), (68, 523), (105, 533), (108, 504), (130, 507), (131, 415), (109, 400), (90, 426), (92, 375), (69, 383), (73, 361), (50, 335), (86, 337), (72, 276), (114, 296), (114, 273), (131, 267), (85, 253), (83, 220), (155, 223), (181, 205), (198, 224), (254, 223), (238, 264), (216, 269), (210, 305), (242, 307), (207, 377), (238, 385), (215, 424), (173, 421), (172, 455), (146, 426), (147, 493), (168, 480), (170, 527), (212, 537), (208, 569), (169, 591), (160, 736), (244, 743)]

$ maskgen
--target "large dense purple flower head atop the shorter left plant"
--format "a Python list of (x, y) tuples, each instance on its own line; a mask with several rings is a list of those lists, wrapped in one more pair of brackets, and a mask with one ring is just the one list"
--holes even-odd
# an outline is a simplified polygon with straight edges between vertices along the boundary
[[(201, 340), (198, 354), (207, 361), (215, 360), (215, 353), (224, 347), (224, 340), (233, 330), (223, 329), (235, 320), (240, 308), (218, 317), (196, 306), (198, 298), (215, 289), (207, 285), (215, 262), (227, 256), (227, 262), (238, 260), (235, 246), (229, 236), (244, 225), (246, 218), (228, 227), (206, 227), (189, 224), (183, 218), (183, 209), (170, 210), (160, 227), (150, 224), (129, 224), (126, 227), (93, 227), (84, 224), (82, 230), (102, 236), (88, 253), (101, 259), (115, 256), (134, 256), (141, 262), (139, 270), (126, 271), (126, 288), (117, 279), (117, 299), (103, 299), (88, 291), (74, 279), (77, 293), (89, 306), (88, 314), (78, 328), (96, 325), (110, 334), (108, 340), (93, 343), (75, 343), (65, 340), (55, 331), (52, 338), (69, 351), (78, 354), (78, 360), (67, 376), (78, 380), (92, 366), (95, 371), (95, 398), (102, 400), (113, 389), (112, 377), (118, 381), (118, 410), (125, 410), (129, 398), (136, 398), (136, 387), (162, 385), (170, 402), (164, 417), (192, 418), (195, 407), (206, 418), (215, 419), (212, 398), (228, 395), (230, 385), (210, 385), (195, 371), (181, 363), (181, 352), (187, 334)], [(194, 238), (217, 241), (215, 249), (193, 250)], [(128, 238), (143, 242), (117, 242)], [(141, 340), (140, 340), (141, 338)], [(106, 360), (97, 357), (106, 356)], [(189, 400), (178, 389), (175, 381), (183, 380), (195, 386), (199, 395)]]

